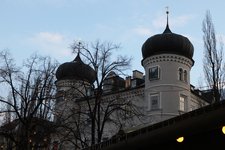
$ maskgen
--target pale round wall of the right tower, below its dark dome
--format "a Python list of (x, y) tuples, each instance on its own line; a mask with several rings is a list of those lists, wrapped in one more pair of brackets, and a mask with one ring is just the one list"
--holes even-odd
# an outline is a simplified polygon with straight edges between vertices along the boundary
[(192, 60), (176, 54), (154, 55), (143, 61), (147, 115), (160, 116), (161, 121), (190, 110), (192, 65)]

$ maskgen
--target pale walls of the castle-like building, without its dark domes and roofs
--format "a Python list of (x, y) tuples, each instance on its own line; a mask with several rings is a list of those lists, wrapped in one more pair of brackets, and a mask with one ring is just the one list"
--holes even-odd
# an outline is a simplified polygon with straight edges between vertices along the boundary
[[(164, 56), (168, 59), (164, 60)], [(205, 102), (200, 95), (196, 95), (191, 91), (189, 83), (189, 74), (192, 66), (191, 61), (188, 62), (188, 60), (182, 60), (183, 57), (176, 55), (163, 55), (155, 57), (158, 57), (158, 62), (151, 62), (151, 59), (146, 59), (143, 63), (146, 69), (145, 85), (124, 89), (116, 94), (108, 94), (103, 98), (107, 101), (114, 99), (119, 95), (121, 99), (132, 101), (132, 103), (139, 108), (140, 113), (144, 114), (144, 116), (139, 116), (138, 118), (134, 117), (132, 120), (118, 118), (120, 121), (123, 121), (123, 130), (125, 132), (131, 132), (141, 127), (154, 124), (207, 105), (207, 102)], [(171, 59), (171, 57), (173, 59)], [(184, 62), (186, 62), (186, 64), (184, 64)], [(170, 65), (167, 65), (168, 63)], [(149, 68), (154, 66), (158, 66), (160, 68), (160, 78), (158, 80), (150, 81), (149, 73), (147, 72), (149, 72)], [(187, 82), (179, 80), (179, 68), (181, 67), (188, 72)], [(66, 90), (67, 88), (61, 87), (60, 89)], [(151, 102), (151, 97), (153, 100), (156, 98), (157, 102)], [(182, 97), (184, 97), (184, 99), (182, 99)], [(61, 114), (67, 117), (71, 110), (76, 110), (79, 108), (84, 111), (84, 109), (87, 108), (87, 106), (85, 106), (85, 102), (75, 101), (76, 100), (72, 99), (60, 101), (57, 106), (58, 110), (61, 110)], [(151, 104), (156, 104), (155, 108), (151, 106)], [(116, 114), (114, 116), (118, 117)], [(119, 127), (106, 123), (102, 139), (109, 139), (114, 136), (118, 130)], [(90, 132), (90, 126), (86, 125), (84, 131), (87, 133)], [(59, 141), (60, 143), (60, 137), (54, 137), (53, 140)], [(76, 139), (74, 139), (74, 142), (76, 142)], [(64, 142), (61, 147), (69, 150), (74, 147), (74, 145), (70, 142)]]

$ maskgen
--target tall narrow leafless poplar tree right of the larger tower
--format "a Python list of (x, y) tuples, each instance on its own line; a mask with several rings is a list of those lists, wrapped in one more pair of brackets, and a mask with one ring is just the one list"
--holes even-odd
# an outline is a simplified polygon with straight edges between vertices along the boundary
[(202, 31), (205, 48), (203, 59), (205, 78), (208, 86), (212, 89), (213, 102), (218, 102), (221, 100), (224, 82), (223, 43), (221, 42), (218, 48), (218, 40), (209, 10), (202, 23)]

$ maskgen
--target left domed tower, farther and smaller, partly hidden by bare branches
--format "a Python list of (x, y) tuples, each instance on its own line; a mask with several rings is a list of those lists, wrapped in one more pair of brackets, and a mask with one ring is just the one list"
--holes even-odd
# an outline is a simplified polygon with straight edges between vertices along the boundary
[[(72, 149), (71, 147), (74, 146), (72, 143), (79, 145), (79, 140), (74, 138), (72, 133), (76, 133), (78, 136), (77, 125), (79, 124), (79, 128), (83, 125), (80, 123), (80, 118), (82, 117), (81, 109), (85, 107), (81, 103), (81, 98), (90, 96), (89, 92), (96, 79), (96, 73), (94, 69), (81, 60), (80, 52), (78, 52), (73, 61), (65, 62), (58, 67), (56, 78), (57, 93), (54, 120), (66, 128), (59, 129), (53, 135), (53, 139), (56, 143), (60, 143), (62, 149)], [(69, 140), (64, 137), (68, 137)]]

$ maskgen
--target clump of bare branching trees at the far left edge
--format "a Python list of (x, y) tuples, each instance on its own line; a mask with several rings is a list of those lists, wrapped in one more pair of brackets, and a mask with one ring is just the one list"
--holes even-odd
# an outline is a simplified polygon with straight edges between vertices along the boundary
[(49, 57), (33, 55), (23, 67), (17, 67), (7, 51), (2, 51), (0, 57), (0, 83), (10, 93), (6, 98), (1, 96), (0, 103), (5, 107), (0, 112), (8, 118), (13, 116), (13, 120), (8, 119), (1, 127), (1, 136), (10, 139), (17, 150), (46, 144), (49, 133), (40, 133), (52, 120), (57, 62)]

